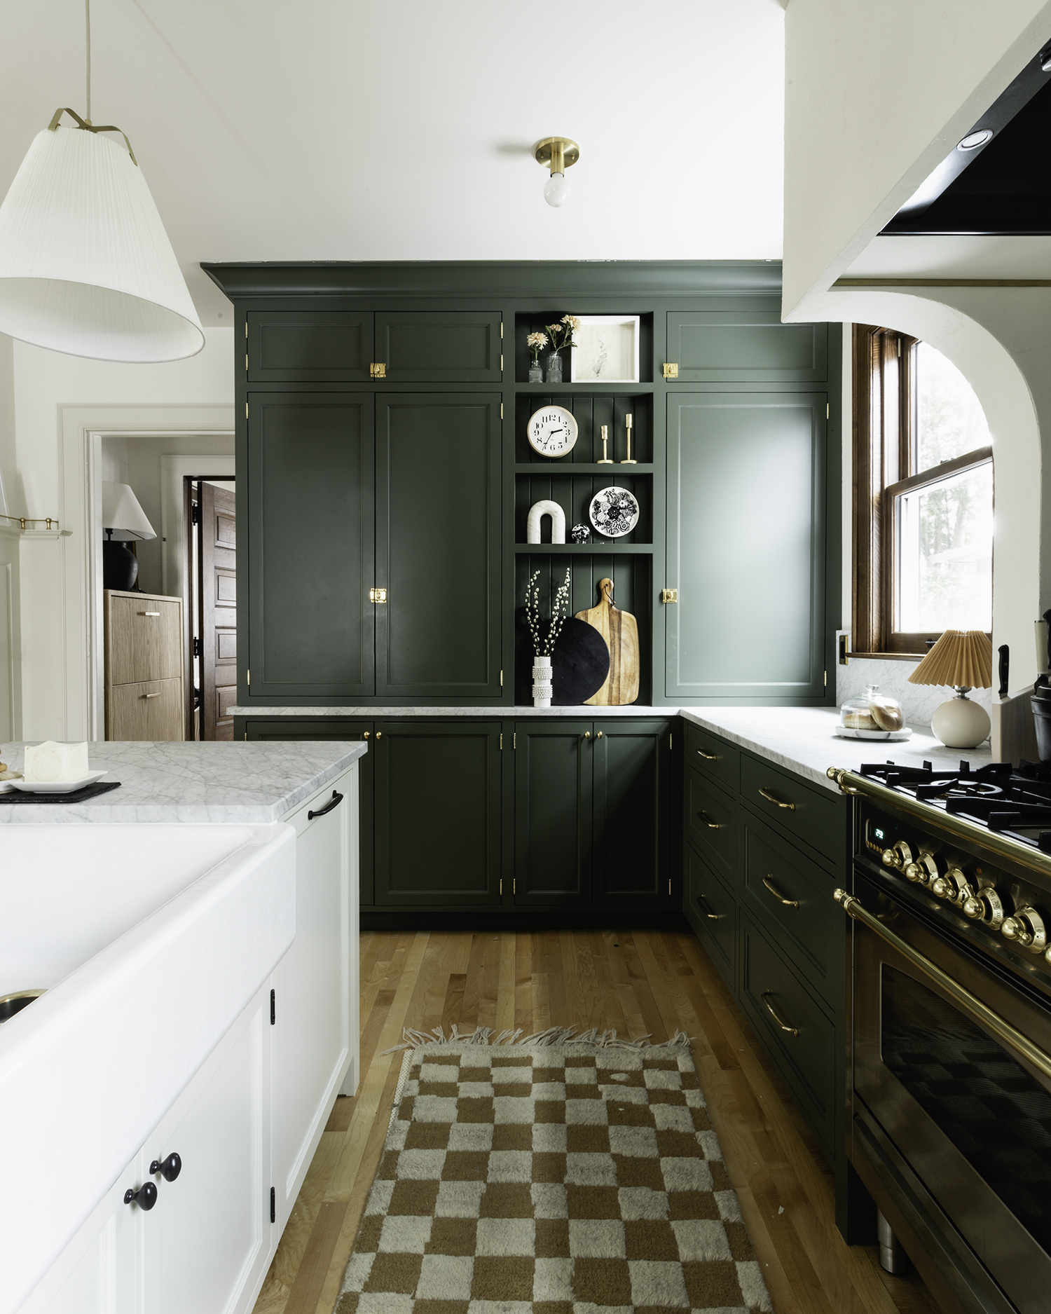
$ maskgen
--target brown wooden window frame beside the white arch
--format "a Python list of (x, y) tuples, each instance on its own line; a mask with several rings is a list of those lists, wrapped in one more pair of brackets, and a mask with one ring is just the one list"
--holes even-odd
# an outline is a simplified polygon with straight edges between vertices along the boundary
[(910, 633), (893, 627), (895, 499), (983, 465), (993, 455), (991, 447), (983, 447), (913, 472), (917, 343), (917, 338), (892, 328), (854, 325), (851, 649), (858, 656), (916, 660), (941, 637), (937, 629)]

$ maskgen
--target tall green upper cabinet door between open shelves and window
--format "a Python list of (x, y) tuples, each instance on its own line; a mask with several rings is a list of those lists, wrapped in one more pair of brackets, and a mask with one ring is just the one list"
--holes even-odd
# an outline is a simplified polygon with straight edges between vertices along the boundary
[(825, 407), (669, 397), (666, 696), (824, 695)]

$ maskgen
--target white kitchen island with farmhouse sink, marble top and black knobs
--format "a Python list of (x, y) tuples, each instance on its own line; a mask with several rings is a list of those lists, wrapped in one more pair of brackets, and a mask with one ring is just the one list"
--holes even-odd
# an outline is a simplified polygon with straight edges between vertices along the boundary
[(46, 989), (0, 1025), (3, 1314), (251, 1310), (357, 1084), (364, 752), (100, 742), (121, 788), (0, 800), (0, 996)]

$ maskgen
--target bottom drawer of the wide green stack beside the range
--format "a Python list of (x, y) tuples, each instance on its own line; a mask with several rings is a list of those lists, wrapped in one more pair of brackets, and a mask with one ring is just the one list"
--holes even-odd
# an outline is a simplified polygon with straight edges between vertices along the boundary
[(836, 1028), (741, 912), (741, 1004), (815, 1135), (836, 1156)]

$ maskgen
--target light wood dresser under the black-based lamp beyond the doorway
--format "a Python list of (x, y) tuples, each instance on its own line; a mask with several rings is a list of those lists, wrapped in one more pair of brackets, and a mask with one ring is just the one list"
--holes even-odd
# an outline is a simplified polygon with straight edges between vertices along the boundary
[(106, 738), (185, 738), (183, 599), (102, 593)]

